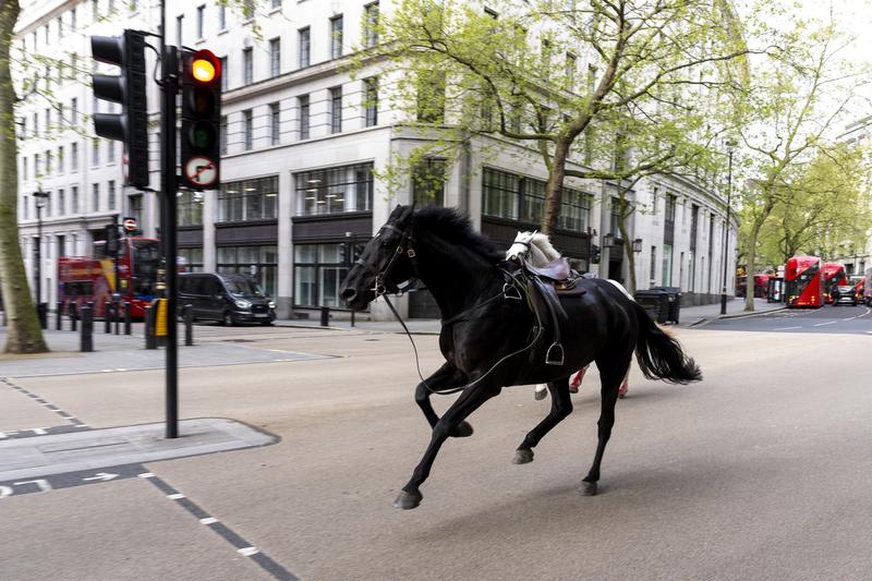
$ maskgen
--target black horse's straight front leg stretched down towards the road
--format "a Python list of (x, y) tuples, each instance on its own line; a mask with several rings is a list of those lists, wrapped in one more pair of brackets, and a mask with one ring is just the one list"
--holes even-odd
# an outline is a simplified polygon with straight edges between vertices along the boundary
[(433, 462), (436, 460), (436, 455), (439, 448), (452, 433), (460, 426), (472, 412), (479, 407), (499, 394), (499, 386), (492, 385), (476, 385), (468, 387), (460, 397), (451, 404), (450, 408), (443, 414), (443, 416), (433, 426), (433, 435), (431, 436), (429, 445), (421, 462), (415, 467), (412, 473), (412, 479), (402, 487), (399, 496), (393, 501), (393, 506), (402, 509), (415, 508), (421, 504), (423, 498), (420, 492), (421, 484), (429, 476), (429, 470)]

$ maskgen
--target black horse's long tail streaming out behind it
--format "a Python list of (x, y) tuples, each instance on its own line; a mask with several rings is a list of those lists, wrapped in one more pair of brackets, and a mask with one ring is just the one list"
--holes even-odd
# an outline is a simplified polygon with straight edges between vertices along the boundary
[(644, 376), (673, 384), (689, 384), (702, 379), (700, 366), (685, 353), (678, 340), (658, 327), (642, 305), (634, 301), (633, 308), (639, 320), (635, 356)]

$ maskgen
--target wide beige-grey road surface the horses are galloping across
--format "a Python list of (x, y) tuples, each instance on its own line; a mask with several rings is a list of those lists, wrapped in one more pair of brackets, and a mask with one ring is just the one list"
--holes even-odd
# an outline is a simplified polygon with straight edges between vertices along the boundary
[[(704, 380), (633, 368), (596, 497), (576, 492), (596, 444), (596, 371), (531, 464), (510, 459), (548, 401), (506, 389), (472, 416), (473, 437), (443, 448), (421, 507), (401, 511), (391, 501), (428, 439), (404, 336), (198, 327), (190, 349), (257, 356), (182, 368), (182, 416), (280, 441), (61, 489), (7, 483), (0, 578), (869, 579), (869, 331), (865, 307), (676, 329)], [(436, 338), (415, 341), (436, 368)], [(69, 426), (61, 412), (93, 429), (162, 420), (160, 370), (24, 375), (0, 384), (0, 432), (47, 437), (26, 431)]]

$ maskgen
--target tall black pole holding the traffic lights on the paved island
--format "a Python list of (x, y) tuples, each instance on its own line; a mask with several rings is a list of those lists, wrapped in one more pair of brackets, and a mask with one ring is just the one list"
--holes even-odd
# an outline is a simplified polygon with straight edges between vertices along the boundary
[[(161, 3), (162, 4), (162, 3)], [(179, 94), (179, 56), (177, 48), (162, 43), (161, 118), (160, 128), (160, 238), (164, 240), (166, 259), (165, 277), (167, 293), (167, 437), (179, 437), (179, 359), (178, 327), (175, 316), (175, 191), (178, 179), (175, 169), (175, 96)]]

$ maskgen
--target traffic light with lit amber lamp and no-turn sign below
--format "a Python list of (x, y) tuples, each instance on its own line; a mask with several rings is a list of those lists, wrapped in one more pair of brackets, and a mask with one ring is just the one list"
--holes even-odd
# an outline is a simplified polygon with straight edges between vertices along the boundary
[(221, 165), (221, 61), (209, 50), (182, 53), (182, 183), (218, 186)]

